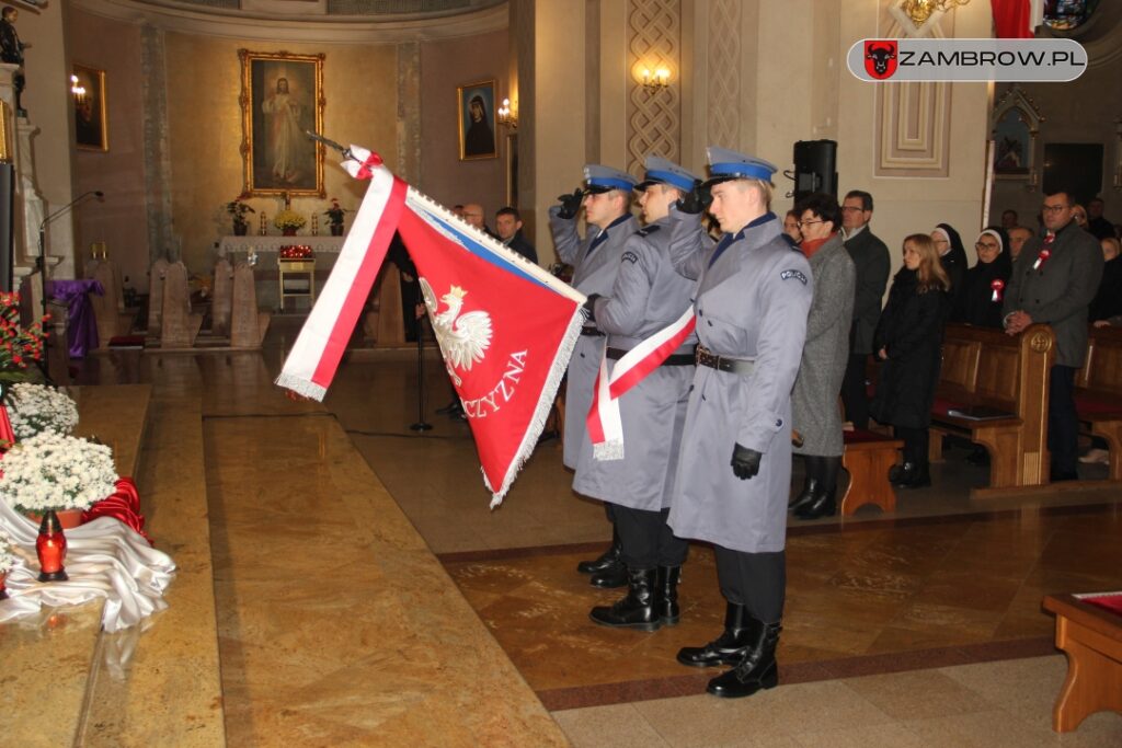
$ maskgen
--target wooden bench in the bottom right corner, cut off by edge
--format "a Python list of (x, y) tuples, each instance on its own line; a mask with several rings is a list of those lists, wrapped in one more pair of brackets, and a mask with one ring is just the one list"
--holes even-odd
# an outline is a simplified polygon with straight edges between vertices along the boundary
[(1067, 680), (1052, 709), (1052, 729), (1069, 732), (1094, 712), (1122, 712), (1122, 592), (1049, 594), (1056, 647), (1067, 655)]

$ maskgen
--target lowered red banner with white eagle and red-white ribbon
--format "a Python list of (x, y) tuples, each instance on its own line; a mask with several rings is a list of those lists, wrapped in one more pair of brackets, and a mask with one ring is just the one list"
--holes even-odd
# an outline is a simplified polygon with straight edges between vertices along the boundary
[(276, 384), (323, 399), (399, 232), (498, 506), (537, 444), (585, 296), (407, 186), (376, 154), (351, 153), (344, 168), (370, 186)]

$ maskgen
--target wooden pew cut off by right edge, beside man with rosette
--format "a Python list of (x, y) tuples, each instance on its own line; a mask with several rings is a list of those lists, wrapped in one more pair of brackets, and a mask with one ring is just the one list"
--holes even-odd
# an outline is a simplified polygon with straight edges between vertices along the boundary
[(1122, 329), (1092, 327), (1075, 378), (1075, 407), (1087, 431), (1110, 446), (1110, 478), (1122, 481)]

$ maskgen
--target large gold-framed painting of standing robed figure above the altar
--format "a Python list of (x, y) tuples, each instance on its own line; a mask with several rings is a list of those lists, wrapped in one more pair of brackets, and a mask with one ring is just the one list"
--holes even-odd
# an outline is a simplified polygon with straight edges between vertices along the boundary
[(324, 197), (323, 146), (306, 131), (323, 131), (324, 55), (239, 49), (241, 157), (246, 195)]

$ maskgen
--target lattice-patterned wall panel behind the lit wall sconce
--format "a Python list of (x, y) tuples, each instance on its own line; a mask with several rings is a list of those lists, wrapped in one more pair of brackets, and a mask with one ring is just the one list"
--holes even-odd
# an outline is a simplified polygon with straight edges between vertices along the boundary
[[(682, 8), (680, 0), (631, 0), (627, 9), (627, 170), (643, 173), (643, 160), (654, 154), (679, 159), (681, 153)], [(669, 87), (650, 92), (636, 82), (636, 72), (666, 67)]]

